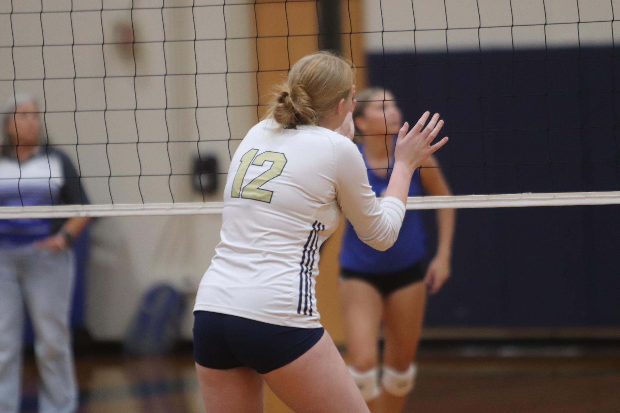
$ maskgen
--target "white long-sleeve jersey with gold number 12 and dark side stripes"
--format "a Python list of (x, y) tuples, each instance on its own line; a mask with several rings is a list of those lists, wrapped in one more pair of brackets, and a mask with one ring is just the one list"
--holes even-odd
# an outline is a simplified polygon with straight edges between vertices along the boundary
[(194, 311), (321, 326), (314, 294), (319, 248), (341, 211), (362, 241), (386, 250), (398, 237), (405, 206), (392, 197), (377, 201), (360, 151), (347, 137), (319, 126), (255, 125), (231, 160), (221, 241)]

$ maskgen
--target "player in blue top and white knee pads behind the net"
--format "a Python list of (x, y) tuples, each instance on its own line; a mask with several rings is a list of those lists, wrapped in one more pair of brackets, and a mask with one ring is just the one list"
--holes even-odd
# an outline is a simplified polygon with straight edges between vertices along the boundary
[[(353, 112), (368, 180), (384, 196), (394, 167), (394, 144), (401, 111), (392, 93), (371, 88), (357, 93)], [(430, 156), (417, 170), (409, 196), (450, 195), (437, 160)], [(422, 185), (420, 186), (420, 183)], [(398, 240), (387, 251), (365, 245), (347, 221), (340, 250), (340, 300), (350, 373), (371, 411), (383, 393), (386, 413), (400, 412), (414, 388), (415, 352), (420, 339), (427, 288), (438, 292), (448, 279), (454, 232), (454, 209), (437, 211), (438, 246), (424, 271), (425, 235), (420, 212), (407, 211)], [(424, 282), (422, 282), (424, 280)], [(383, 375), (379, 383), (379, 327), (384, 326)], [(383, 392), (382, 388), (383, 387)]]

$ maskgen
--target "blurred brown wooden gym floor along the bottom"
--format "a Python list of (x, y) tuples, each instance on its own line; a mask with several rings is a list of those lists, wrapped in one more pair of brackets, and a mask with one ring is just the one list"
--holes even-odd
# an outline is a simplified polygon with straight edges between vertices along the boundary
[[(505, 347), (422, 350), (405, 412), (618, 413), (620, 352)], [(192, 354), (159, 359), (77, 357), (81, 409), (89, 413), (203, 412)], [(24, 371), (23, 412), (36, 411), (37, 372)], [(267, 391), (266, 413), (290, 412)]]

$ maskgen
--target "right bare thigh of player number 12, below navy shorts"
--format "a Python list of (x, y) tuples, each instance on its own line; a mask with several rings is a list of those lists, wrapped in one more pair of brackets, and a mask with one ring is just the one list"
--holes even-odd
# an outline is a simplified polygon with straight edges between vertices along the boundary
[(368, 407), (327, 331), (298, 359), (263, 375), (296, 413), (360, 413)]

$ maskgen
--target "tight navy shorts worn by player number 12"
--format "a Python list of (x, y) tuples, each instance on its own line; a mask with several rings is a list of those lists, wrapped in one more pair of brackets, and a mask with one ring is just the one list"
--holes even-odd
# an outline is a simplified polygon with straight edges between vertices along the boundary
[(298, 359), (321, 339), (321, 328), (262, 323), (211, 311), (195, 311), (194, 360), (203, 367), (226, 370), (250, 367), (265, 374)]

